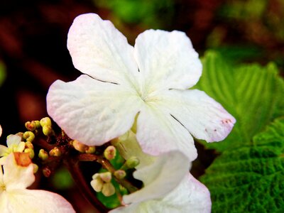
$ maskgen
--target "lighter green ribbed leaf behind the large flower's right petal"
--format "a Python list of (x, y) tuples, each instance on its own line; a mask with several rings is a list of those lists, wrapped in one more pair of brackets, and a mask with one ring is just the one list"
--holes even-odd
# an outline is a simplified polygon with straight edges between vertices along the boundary
[(202, 59), (203, 72), (195, 88), (203, 90), (229, 111), (236, 124), (220, 143), (204, 143), (224, 151), (249, 144), (273, 119), (283, 115), (284, 83), (272, 63), (230, 65), (219, 54), (208, 51)]

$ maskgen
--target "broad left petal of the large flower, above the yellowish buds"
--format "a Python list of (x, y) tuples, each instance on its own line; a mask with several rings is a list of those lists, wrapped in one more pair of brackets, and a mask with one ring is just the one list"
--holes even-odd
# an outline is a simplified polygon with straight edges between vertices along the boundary
[(47, 96), (48, 114), (67, 135), (96, 146), (126, 133), (141, 103), (135, 92), (87, 75), (54, 82)]

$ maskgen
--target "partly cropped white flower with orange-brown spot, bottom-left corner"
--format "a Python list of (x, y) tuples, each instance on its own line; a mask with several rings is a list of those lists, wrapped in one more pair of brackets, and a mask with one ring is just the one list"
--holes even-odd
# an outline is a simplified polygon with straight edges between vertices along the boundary
[(35, 181), (33, 164), (27, 159), (28, 153), (11, 153), (4, 163), (4, 173), (0, 168), (0, 212), (75, 212), (72, 205), (60, 195), (26, 189)]

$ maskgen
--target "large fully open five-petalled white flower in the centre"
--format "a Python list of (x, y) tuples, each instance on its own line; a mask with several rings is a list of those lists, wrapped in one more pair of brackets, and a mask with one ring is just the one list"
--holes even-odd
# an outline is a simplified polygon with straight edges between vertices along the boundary
[(110, 21), (87, 13), (72, 23), (67, 47), (85, 75), (54, 82), (47, 105), (73, 139), (100, 146), (131, 129), (138, 114), (144, 152), (179, 150), (194, 160), (192, 136), (222, 141), (234, 126), (234, 117), (214, 99), (187, 89), (199, 80), (202, 64), (185, 33), (148, 30), (132, 47)]

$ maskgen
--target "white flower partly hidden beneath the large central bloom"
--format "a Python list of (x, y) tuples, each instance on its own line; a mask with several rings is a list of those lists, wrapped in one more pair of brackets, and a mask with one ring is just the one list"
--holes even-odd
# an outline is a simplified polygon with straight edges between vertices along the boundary
[(211, 200), (207, 187), (188, 173), (190, 163), (179, 151), (164, 153), (158, 157), (141, 152), (135, 135), (127, 133), (116, 143), (124, 158), (135, 155), (141, 161), (133, 177), (141, 180), (141, 190), (124, 195), (126, 207), (114, 212), (210, 212)]

